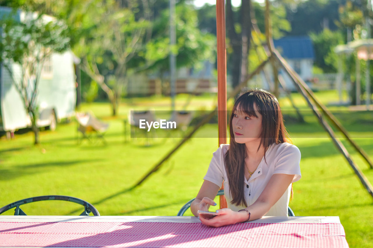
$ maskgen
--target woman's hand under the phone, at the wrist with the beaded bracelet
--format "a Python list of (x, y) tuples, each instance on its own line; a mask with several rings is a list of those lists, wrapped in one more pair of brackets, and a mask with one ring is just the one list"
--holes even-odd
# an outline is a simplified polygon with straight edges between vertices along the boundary
[(211, 219), (207, 219), (203, 214), (199, 214), (201, 222), (206, 226), (219, 227), (231, 225), (239, 222), (239, 213), (231, 209), (216, 210), (217, 214)]

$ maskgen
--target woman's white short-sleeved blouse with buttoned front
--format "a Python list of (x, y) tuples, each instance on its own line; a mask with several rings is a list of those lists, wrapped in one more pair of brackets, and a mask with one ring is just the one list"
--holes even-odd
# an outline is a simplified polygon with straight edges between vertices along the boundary
[[(221, 187), (224, 181), (224, 193), (228, 203), (228, 208), (233, 211), (244, 209), (244, 205), (236, 206), (231, 203), (232, 197), (229, 194), (229, 183), (227, 172), (224, 165), (224, 155), (229, 149), (229, 144), (221, 144), (220, 147), (213, 153), (209, 169), (204, 180), (213, 182)], [(269, 179), (273, 174), (289, 174), (294, 175), (292, 182), (296, 182), (301, 178), (300, 171), (301, 153), (298, 147), (289, 143), (271, 144), (266, 152), (266, 161), (264, 156), (259, 163), (254, 174), (249, 180), (244, 177), (244, 194), (247, 206), (253, 204), (259, 195), (266, 187)], [(291, 184), (286, 189), (282, 197), (273, 205), (266, 216), (287, 216), (288, 206), (291, 194)]]

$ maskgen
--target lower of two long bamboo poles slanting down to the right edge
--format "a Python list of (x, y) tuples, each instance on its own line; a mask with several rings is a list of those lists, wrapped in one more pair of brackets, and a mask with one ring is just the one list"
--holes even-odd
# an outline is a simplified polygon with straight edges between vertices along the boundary
[[(298, 88), (299, 92), (303, 95), (304, 99), (307, 101), (308, 105), (318, 118), (320, 124), (325, 128), (329, 136), (332, 138), (334, 144), (336, 145), (337, 149), (342, 153), (342, 155), (346, 158), (347, 162), (350, 164), (352, 169), (354, 170), (355, 174), (358, 176), (358, 178), (361, 181), (361, 184), (367, 189), (368, 193), (373, 197), (373, 187), (368, 181), (368, 179), (364, 176), (363, 172), (354, 164), (352, 159), (350, 158), (350, 155), (348, 154), (347, 149), (345, 146), (335, 137), (335, 133), (330, 127), (330, 125), (323, 120), (322, 116), (317, 112), (317, 108), (314, 104), (311, 103), (310, 99), (307, 97), (307, 90), (304, 88), (302, 79), (299, 79), (296, 77), (294, 72), (292, 71), (291, 67), (286, 63), (285, 59), (279, 55), (277, 51), (273, 51), (274, 56), (279, 61), (280, 65), (284, 68), (284, 70), (289, 74), (289, 76), (293, 79), (293, 82), (295, 86)], [(301, 87), (302, 86), (302, 87)]]

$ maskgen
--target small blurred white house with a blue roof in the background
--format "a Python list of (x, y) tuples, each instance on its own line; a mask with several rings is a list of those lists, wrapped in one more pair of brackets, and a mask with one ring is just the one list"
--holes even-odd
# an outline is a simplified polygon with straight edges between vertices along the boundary
[[(275, 48), (279, 51), (289, 65), (297, 72), (305, 82), (312, 79), (312, 67), (315, 58), (313, 44), (308, 36), (288, 36), (273, 41)], [(280, 70), (289, 90), (296, 90), (294, 83), (288, 74)]]

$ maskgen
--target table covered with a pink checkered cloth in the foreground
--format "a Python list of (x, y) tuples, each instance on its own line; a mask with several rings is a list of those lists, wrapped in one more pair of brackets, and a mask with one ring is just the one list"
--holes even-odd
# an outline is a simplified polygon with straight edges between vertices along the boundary
[(0, 216), (0, 247), (348, 247), (336, 216), (264, 216), (211, 228), (194, 216)]

